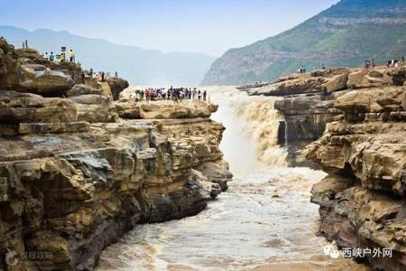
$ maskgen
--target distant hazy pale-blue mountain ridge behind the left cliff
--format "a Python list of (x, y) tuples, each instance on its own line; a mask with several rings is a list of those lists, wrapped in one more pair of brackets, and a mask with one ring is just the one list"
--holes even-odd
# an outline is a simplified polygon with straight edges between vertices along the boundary
[(202, 53), (144, 50), (119, 45), (101, 39), (89, 39), (66, 31), (37, 29), (32, 32), (13, 26), (0, 26), (0, 36), (17, 47), (25, 39), (28, 46), (42, 53), (60, 51), (60, 46), (72, 48), (84, 68), (105, 70), (140, 85), (194, 86), (203, 79), (214, 57)]

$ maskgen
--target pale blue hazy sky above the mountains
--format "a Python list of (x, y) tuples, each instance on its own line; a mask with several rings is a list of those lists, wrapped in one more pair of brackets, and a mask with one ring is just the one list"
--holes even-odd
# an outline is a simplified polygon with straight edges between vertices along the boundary
[[(0, 0), (0, 24), (67, 30), (160, 51), (220, 56), (338, 0)], [(0, 33), (1, 34), (1, 33)]]

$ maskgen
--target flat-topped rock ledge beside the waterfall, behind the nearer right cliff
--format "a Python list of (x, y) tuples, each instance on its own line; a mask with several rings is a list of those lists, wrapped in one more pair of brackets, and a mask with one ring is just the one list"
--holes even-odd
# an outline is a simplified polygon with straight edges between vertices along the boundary
[(371, 70), (336, 68), (291, 75), (247, 89), (249, 95), (283, 97), (275, 102), (285, 120), (281, 122), (279, 143), (315, 140), (340, 112), (335, 100), (353, 89), (402, 86), (406, 71), (386, 67)]

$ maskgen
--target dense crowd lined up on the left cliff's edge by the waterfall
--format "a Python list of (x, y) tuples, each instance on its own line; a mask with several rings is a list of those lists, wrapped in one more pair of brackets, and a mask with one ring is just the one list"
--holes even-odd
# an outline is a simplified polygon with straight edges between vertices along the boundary
[[(175, 102), (182, 101), (182, 99), (199, 99), (208, 100), (208, 91), (200, 90), (197, 88), (159, 88), (159, 89), (144, 89), (135, 90), (135, 101), (153, 101), (153, 100), (173, 100)], [(133, 98), (133, 96), (131, 96)]]

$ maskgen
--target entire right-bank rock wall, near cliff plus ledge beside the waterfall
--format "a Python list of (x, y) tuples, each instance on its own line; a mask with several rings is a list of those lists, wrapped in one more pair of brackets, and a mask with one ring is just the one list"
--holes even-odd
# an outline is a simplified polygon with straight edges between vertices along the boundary
[[(303, 155), (329, 173), (312, 189), (318, 234), (339, 248), (370, 249), (351, 256), (374, 270), (406, 269), (405, 74), (387, 67), (315, 70), (247, 89), (282, 97), (275, 108), (288, 145), (316, 140)], [(374, 253), (383, 249), (391, 257)]]

